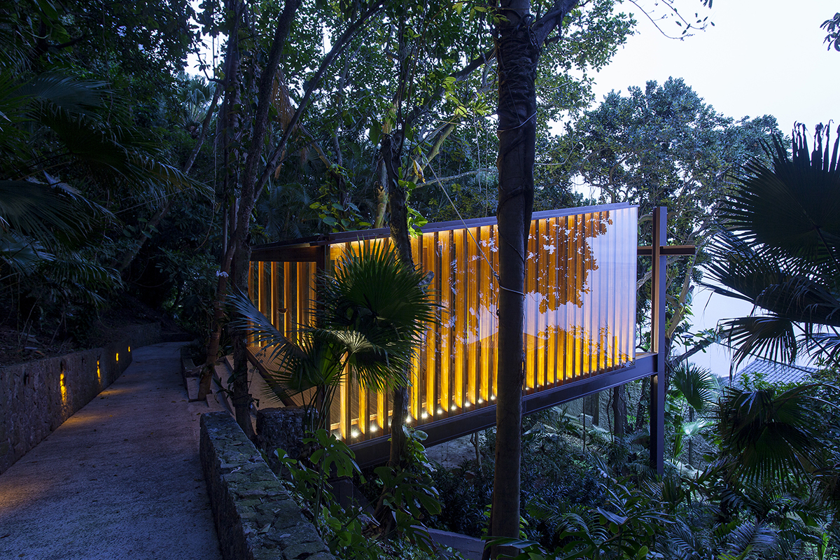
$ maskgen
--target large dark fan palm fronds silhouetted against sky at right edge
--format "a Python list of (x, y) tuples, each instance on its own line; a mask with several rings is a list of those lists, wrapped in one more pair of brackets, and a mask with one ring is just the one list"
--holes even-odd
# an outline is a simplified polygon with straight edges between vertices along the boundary
[(749, 354), (792, 361), (803, 345), (840, 358), (838, 147), (840, 138), (832, 149), (829, 129), (818, 125), (809, 153), (797, 125), (792, 158), (774, 139), (772, 169), (748, 165), (723, 212), (727, 230), (711, 252), (707, 285), (755, 309), (722, 324), (737, 362)]

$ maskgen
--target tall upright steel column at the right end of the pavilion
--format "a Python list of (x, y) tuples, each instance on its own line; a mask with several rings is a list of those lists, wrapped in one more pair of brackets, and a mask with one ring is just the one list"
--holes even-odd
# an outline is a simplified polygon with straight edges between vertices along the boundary
[(664, 474), (665, 463), (665, 269), (668, 208), (654, 208), (653, 259), (650, 294), (650, 343), (656, 354), (650, 377), (650, 467)]

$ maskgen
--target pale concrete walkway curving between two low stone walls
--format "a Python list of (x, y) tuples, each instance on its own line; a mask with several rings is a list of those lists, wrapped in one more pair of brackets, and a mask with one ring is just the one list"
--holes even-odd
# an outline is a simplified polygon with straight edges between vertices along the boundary
[(0, 558), (221, 559), (198, 458), (207, 404), (187, 402), (181, 345), (136, 348), (113, 385), (0, 474)]

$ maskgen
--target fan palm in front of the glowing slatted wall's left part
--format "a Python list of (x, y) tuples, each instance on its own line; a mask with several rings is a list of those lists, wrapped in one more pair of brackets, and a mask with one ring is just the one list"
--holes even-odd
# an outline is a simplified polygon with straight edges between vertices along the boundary
[(402, 264), (385, 243), (351, 250), (331, 275), (318, 278), (315, 327), (294, 342), (279, 332), (244, 294), (231, 298), (232, 327), (272, 348), (277, 369), (268, 379), (276, 395), (307, 395), (305, 405), (323, 427), (336, 388), (352, 375), (368, 389), (406, 385), (405, 373), (437, 304), (424, 290), (422, 271)]

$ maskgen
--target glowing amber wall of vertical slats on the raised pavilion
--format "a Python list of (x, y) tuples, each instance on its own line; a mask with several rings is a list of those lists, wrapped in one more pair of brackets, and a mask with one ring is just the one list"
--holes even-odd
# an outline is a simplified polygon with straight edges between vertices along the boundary
[[(409, 393), (414, 425), (490, 406), (496, 399), (495, 222), (428, 224), (412, 239), (415, 264), (433, 273), (431, 293), (444, 310), (441, 321), (428, 327), (414, 360)], [(523, 255), (526, 395), (635, 359), (637, 224), (637, 208), (626, 205), (534, 213)], [(384, 230), (340, 233), (309, 241), (305, 249), (302, 243), (291, 250), (286, 245), (270, 259), (258, 253), (255, 258), (265, 260), (252, 262), (250, 296), (294, 338), (299, 326), (311, 324), (317, 270), (331, 270), (354, 245), (388, 243), (386, 235)], [(295, 251), (300, 260), (274, 260)], [(388, 416), (388, 395), (354, 381), (341, 387), (331, 411), (333, 430), (352, 443), (383, 435)]]

